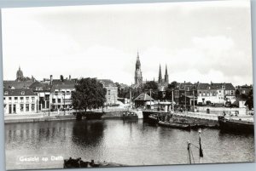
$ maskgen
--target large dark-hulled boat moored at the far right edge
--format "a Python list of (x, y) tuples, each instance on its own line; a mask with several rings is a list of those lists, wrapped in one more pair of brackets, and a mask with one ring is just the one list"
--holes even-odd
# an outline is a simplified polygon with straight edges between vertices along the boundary
[(254, 133), (254, 123), (242, 121), (241, 119), (228, 119), (224, 116), (218, 117), (219, 128), (224, 131), (236, 133)]

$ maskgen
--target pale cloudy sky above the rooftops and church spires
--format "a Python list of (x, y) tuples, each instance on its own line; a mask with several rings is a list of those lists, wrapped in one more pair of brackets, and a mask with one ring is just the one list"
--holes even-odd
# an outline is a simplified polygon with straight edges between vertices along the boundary
[(135, 3), (2, 10), (3, 79), (19, 66), (38, 80), (60, 75), (143, 81), (253, 83), (249, 1)]

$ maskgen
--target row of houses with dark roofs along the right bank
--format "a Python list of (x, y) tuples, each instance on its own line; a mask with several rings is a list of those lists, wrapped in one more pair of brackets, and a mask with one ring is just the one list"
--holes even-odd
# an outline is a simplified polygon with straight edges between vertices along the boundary
[[(177, 83), (173, 88), (173, 100), (176, 104), (193, 105), (225, 105), (227, 102), (233, 104), (238, 95), (247, 96), (253, 86), (237, 86), (232, 83)], [(160, 91), (165, 97), (166, 89)], [(172, 94), (171, 94), (172, 96)], [(171, 98), (169, 98), (171, 99)]]

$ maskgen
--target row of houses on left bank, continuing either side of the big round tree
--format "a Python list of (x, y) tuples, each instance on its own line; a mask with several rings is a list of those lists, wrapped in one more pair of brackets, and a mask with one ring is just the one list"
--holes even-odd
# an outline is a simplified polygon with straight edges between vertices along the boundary
[[(113, 81), (98, 79), (107, 89), (106, 105), (116, 104), (118, 88)], [(43, 81), (3, 81), (4, 114), (36, 113), (72, 109), (71, 94), (77, 79), (49, 79)]]

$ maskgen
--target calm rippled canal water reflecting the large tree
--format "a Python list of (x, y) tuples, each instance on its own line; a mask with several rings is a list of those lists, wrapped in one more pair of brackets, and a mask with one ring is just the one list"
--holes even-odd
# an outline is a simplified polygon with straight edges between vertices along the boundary
[[(6, 168), (62, 168), (62, 158), (68, 157), (125, 165), (188, 164), (188, 140), (192, 143), (191, 160), (198, 163), (196, 130), (151, 126), (142, 119), (7, 123)], [(203, 163), (254, 162), (253, 134), (205, 128), (201, 143)]]

